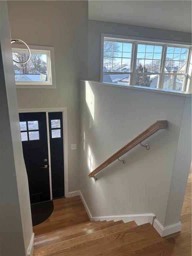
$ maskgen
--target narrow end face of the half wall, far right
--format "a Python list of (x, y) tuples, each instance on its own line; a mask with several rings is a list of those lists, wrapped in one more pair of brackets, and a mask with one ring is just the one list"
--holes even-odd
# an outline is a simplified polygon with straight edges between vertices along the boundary
[(186, 98), (167, 203), (165, 226), (173, 225), (181, 216), (188, 180), (188, 167), (191, 164), (191, 131), (191, 98)]

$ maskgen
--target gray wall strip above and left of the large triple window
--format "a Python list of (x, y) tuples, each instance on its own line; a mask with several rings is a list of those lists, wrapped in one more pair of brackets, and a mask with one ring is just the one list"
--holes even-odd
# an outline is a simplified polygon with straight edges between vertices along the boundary
[(89, 80), (100, 81), (101, 33), (191, 43), (191, 33), (89, 20)]

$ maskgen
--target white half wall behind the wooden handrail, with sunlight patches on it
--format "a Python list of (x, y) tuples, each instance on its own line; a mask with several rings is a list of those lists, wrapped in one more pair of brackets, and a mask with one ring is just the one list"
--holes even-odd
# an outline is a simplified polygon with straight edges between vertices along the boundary
[[(87, 82), (87, 86), (94, 94), (95, 120), (91, 127), (85, 82), (80, 82), (80, 190), (92, 216), (154, 213), (162, 226), (178, 222), (191, 160), (190, 120), (184, 118), (186, 113), (187, 117), (191, 115), (191, 109), (190, 104), (184, 108), (185, 94), (172, 95), (97, 82)], [(183, 119), (181, 129), (182, 117), (185, 121)], [(156, 120), (168, 120), (169, 127), (144, 142), (150, 145), (149, 151), (138, 145), (124, 155), (125, 165), (117, 160), (97, 174), (96, 182), (88, 178), (88, 147), (94, 169)], [(182, 158), (185, 153), (182, 169), (178, 169), (178, 154)], [(184, 178), (180, 179), (181, 176)], [(171, 184), (174, 179), (175, 185)], [(180, 188), (177, 187), (178, 201), (174, 194), (176, 184), (180, 184)], [(174, 201), (177, 208), (169, 207), (168, 199)], [(167, 217), (165, 222), (169, 211), (170, 216), (175, 212), (175, 218)]]

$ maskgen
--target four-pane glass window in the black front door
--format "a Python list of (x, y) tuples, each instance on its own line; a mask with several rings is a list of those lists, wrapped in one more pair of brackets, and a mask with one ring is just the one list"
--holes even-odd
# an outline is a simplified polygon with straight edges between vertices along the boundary
[(39, 140), (38, 121), (24, 121), (19, 123), (22, 141)]

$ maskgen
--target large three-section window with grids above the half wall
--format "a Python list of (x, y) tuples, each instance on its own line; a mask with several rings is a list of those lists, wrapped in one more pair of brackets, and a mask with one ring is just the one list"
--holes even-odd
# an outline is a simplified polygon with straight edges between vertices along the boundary
[(104, 37), (102, 81), (185, 91), (190, 47)]

